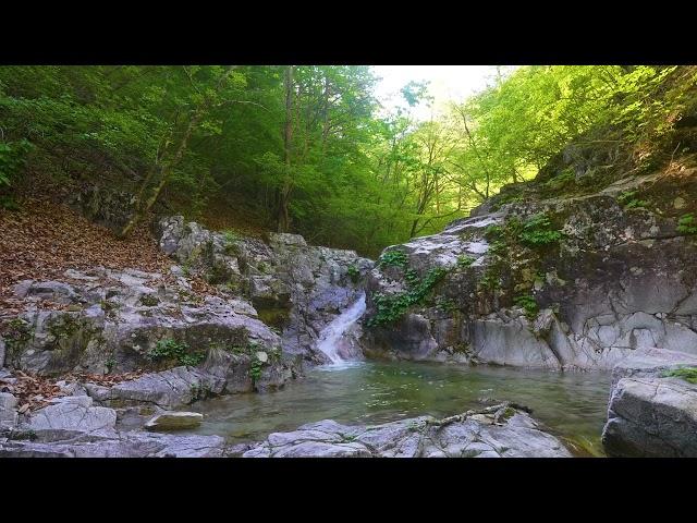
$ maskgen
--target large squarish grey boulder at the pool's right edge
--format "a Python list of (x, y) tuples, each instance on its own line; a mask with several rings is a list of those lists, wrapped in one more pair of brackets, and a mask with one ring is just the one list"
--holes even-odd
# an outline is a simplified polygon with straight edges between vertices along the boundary
[(608, 455), (697, 457), (697, 385), (665, 377), (697, 357), (647, 351), (615, 366), (602, 442)]

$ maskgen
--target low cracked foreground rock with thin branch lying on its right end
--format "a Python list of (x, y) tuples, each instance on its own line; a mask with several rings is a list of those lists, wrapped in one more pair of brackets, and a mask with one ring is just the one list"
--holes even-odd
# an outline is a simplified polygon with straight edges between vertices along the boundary
[[(346, 426), (331, 419), (274, 433), (244, 458), (567, 458), (571, 453), (522, 411), (496, 405), (450, 419), (430, 416)], [(499, 414), (506, 412), (502, 419)], [(242, 449), (241, 449), (242, 450)]]

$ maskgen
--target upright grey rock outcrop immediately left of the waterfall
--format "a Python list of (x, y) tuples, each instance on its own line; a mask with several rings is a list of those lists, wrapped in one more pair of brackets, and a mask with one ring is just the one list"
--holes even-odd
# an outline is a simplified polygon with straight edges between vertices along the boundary
[(353, 251), (307, 245), (297, 234), (229, 239), (183, 217), (160, 221), (160, 246), (223, 291), (248, 291), (259, 318), (282, 331), (283, 351), (323, 361), (319, 332), (359, 299), (372, 262)]

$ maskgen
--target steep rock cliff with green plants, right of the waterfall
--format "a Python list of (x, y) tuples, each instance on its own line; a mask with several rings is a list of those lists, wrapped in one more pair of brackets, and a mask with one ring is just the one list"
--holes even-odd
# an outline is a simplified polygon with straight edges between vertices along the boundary
[(697, 354), (697, 169), (606, 172), (565, 155), (368, 278), (366, 352), (552, 369)]

